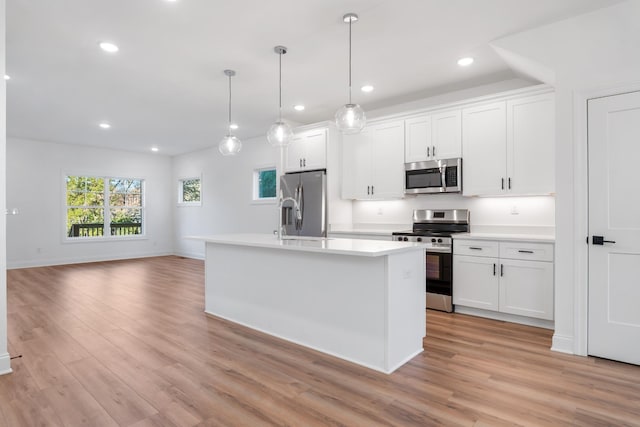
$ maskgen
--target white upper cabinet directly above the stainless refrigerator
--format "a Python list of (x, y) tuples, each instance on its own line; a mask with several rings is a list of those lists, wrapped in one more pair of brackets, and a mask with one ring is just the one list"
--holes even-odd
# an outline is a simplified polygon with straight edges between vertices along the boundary
[(327, 129), (313, 129), (296, 133), (287, 147), (285, 172), (327, 167)]

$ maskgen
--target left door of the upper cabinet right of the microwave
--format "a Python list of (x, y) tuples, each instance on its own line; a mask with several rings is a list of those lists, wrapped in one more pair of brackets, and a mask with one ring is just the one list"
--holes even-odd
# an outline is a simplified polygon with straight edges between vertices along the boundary
[(499, 195), (506, 191), (505, 104), (495, 102), (462, 112), (465, 196)]

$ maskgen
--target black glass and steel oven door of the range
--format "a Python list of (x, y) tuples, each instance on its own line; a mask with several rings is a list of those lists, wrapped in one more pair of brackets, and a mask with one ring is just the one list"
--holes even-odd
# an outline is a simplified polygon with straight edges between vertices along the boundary
[(453, 311), (451, 302), (453, 254), (451, 250), (436, 252), (427, 249), (426, 264), (427, 308), (448, 312)]

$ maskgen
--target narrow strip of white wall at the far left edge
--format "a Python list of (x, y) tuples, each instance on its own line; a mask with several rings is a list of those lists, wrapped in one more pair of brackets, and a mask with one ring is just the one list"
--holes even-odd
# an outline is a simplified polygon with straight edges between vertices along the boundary
[[(5, 72), (5, 1), (0, 0), (0, 72)], [(6, 135), (7, 135), (7, 86), (4, 79), (0, 83), (0, 215), (6, 203)], [(6, 215), (3, 215), (6, 217)], [(0, 221), (0, 374), (11, 372), (7, 352), (7, 224)]]

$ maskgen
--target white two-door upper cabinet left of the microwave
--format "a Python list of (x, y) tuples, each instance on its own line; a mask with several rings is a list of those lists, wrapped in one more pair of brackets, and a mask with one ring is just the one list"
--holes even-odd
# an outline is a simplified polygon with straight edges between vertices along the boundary
[(404, 121), (374, 124), (343, 135), (343, 199), (404, 196)]

